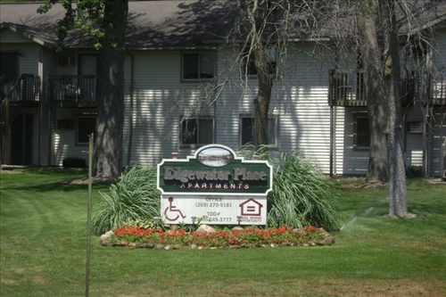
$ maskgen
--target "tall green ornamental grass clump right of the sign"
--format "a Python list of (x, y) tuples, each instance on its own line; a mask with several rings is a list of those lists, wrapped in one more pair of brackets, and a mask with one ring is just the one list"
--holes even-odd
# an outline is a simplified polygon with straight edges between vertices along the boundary
[(277, 216), (290, 227), (315, 226), (335, 230), (340, 226), (334, 185), (316, 163), (300, 153), (282, 153), (272, 160), (275, 171), (273, 191), (268, 194), (268, 225)]

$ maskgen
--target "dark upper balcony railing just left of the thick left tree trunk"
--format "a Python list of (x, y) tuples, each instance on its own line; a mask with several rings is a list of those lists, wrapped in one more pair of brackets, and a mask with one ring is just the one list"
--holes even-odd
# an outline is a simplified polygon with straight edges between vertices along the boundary
[(95, 107), (95, 75), (49, 75), (46, 78), (48, 105), (59, 107)]

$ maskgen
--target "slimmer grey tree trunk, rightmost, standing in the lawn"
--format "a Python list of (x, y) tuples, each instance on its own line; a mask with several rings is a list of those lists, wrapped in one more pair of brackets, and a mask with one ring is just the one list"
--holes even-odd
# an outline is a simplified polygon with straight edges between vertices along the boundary
[(387, 150), (390, 165), (390, 207), (392, 217), (408, 213), (406, 173), (402, 149), (400, 46), (397, 35), (394, 0), (379, 2), (384, 29), (384, 90), (388, 101)]

